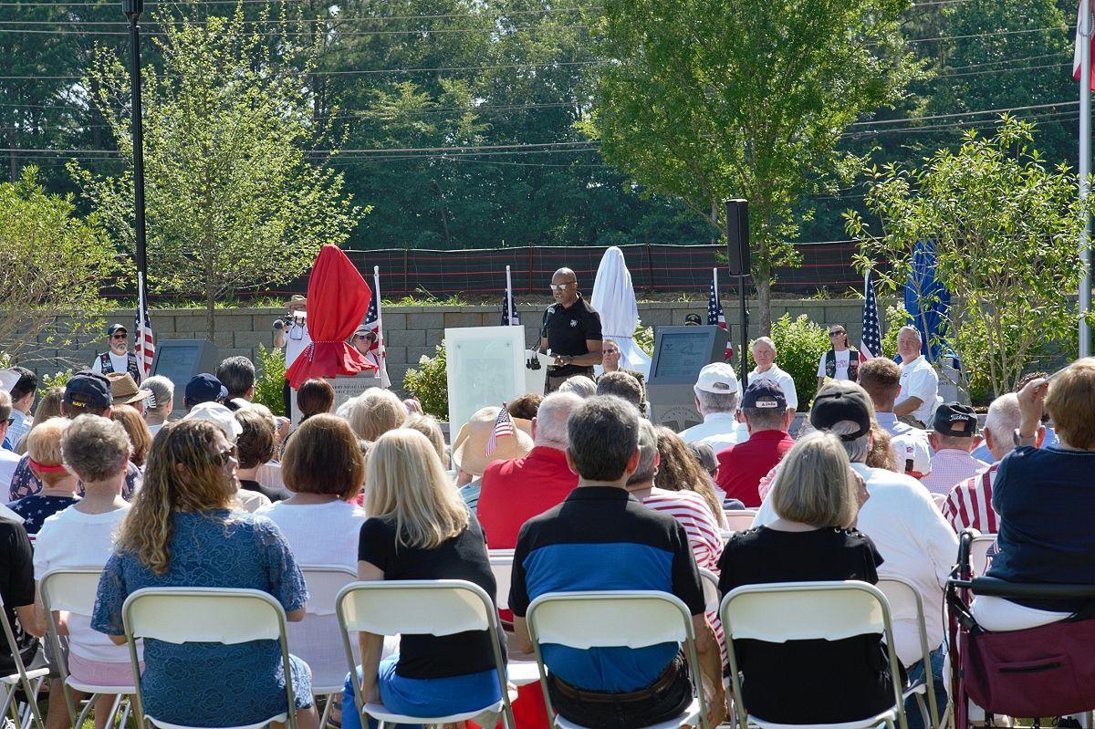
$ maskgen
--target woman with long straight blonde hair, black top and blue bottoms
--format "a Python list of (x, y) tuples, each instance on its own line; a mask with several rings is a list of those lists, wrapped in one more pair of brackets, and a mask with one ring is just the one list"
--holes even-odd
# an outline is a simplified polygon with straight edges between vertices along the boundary
[[(369, 453), (365, 495), (371, 514), (361, 526), (360, 580), (469, 580), (492, 599), (494, 576), (483, 530), (420, 432), (400, 428)], [(361, 633), (358, 678), (366, 702), (378, 698), (395, 714), (445, 716), (500, 698), (487, 633), (404, 635), (399, 653), (381, 660), (383, 636)], [(343, 694), (343, 727), (359, 729), (354, 687)]]

